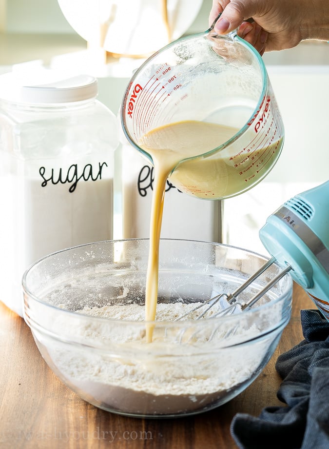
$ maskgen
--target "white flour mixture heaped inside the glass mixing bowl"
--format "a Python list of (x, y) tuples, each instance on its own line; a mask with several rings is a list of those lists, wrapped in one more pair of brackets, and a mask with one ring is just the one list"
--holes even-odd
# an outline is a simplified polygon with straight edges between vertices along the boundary
[[(160, 303), (157, 320), (173, 320), (194, 306)], [(109, 320), (142, 321), (145, 307), (103, 306), (80, 312)], [(81, 337), (92, 347), (62, 342), (54, 345), (52, 340), (51, 346), (47, 343), (47, 362), (70, 388), (98, 407), (135, 415), (193, 413), (227, 402), (264, 366), (277, 333), (257, 343), (231, 347), (218, 344), (223, 337), (231, 338), (233, 344), (259, 335), (259, 328), (245, 321), (234, 326), (232, 336), (228, 329), (221, 328), (220, 334), (217, 329), (210, 341), (207, 338), (213, 330), (189, 333), (190, 326), (182, 332), (182, 328), (173, 330), (168, 325), (164, 329), (159, 325), (155, 326), (154, 341), (146, 343), (143, 323), (140, 327), (136, 323), (130, 327), (127, 322), (111, 327), (111, 321), (87, 322), (67, 316), (56, 325), (58, 335), (60, 328), (63, 333), (70, 328), (76, 338)], [(95, 348), (100, 346), (102, 349)]]

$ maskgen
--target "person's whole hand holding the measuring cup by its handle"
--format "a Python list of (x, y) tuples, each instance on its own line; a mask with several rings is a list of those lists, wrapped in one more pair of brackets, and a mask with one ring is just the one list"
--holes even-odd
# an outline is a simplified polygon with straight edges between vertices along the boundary
[[(328, 0), (213, 0), (209, 22), (222, 12), (218, 34), (237, 34), (264, 51), (292, 48), (304, 39), (329, 40)], [(252, 18), (252, 23), (246, 20)]]

